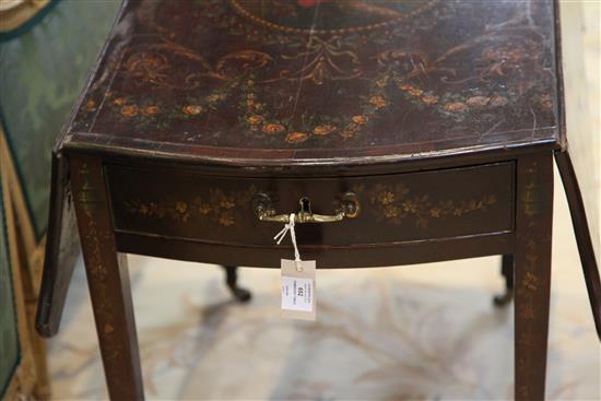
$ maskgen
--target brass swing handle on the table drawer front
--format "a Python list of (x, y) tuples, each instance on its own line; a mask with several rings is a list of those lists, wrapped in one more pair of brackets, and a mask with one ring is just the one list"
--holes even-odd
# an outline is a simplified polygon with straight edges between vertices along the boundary
[[(325, 215), (311, 212), (311, 204), (308, 198), (298, 200), (300, 210), (294, 216), (294, 223), (334, 223), (344, 217), (354, 219), (358, 215), (361, 207), (356, 194), (346, 192), (340, 199), (340, 207), (335, 214)], [(261, 222), (287, 223), (290, 214), (278, 214), (273, 209), (273, 202), (267, 193), (257, 193), (252, 198), (252, 210)]]

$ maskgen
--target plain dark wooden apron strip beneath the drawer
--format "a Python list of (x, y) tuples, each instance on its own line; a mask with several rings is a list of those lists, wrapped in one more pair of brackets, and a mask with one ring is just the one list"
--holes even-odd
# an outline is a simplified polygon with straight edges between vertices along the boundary
[[(228, 246), (122, 232), (116, 240), (121, 252), (225, 266), (279, 268), (280, 259), (294, 257), (288, 246)], [(300, 253), (317, 260), (319, 269), (346, 269), (509, 255), (514, 248), (515, 233), (495, 233), (374, 246), (302, 246)]]

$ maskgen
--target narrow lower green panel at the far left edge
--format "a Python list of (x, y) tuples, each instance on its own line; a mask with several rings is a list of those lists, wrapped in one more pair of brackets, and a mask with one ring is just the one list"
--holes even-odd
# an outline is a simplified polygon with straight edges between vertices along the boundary
[[(1, 172), (0, 172), (1, 174)], [(7, 238), (7, 220), (0, 188), (0, 399), (7, 390), (12, 374), (19, 364), (19, 334), (12, 288), (11, 263)]]

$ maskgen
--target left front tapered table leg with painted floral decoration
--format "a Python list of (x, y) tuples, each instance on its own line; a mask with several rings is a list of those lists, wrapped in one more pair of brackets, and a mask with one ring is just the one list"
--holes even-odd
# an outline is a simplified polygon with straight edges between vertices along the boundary
[(71, 182), (96, 331), (111, 400), (144, 398), (129, 274), (118, 255), (99, 158), (73, 157)]

